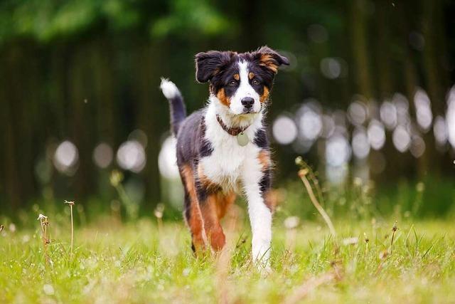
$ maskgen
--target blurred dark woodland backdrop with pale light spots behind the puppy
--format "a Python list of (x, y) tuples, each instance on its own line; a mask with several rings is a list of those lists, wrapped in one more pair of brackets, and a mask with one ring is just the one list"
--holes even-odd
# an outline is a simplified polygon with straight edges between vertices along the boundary
[[(289, 212), (312, 210), (299, 205), (294, 158), (303, 155), (333, 204), (355, 209), (374, 191), (378, 209), (399, 201), (446, 214), (455, 200), (454, 16), (449, 0), (3, 0), (1, 213), (63, 199), (100, 211), (119, 201), (133, 213), (160, 202), (178, 210), (160, 77), (191, 112), (208, 97), (196, 53), (267, 44), (291, 61), (269, 108), (275, 185), (296, 201)], [(122, 174), (109, 181), (113, 169)]]

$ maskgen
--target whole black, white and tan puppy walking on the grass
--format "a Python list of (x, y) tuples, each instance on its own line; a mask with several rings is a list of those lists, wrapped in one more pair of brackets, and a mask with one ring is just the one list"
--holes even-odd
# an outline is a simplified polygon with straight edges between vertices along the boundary
[(185, 188), (184, 217), (196, 253), (225, 245), (220, 219), (245, 194), (252, 227), (252, 257), (268, 266), (272, 239), (269, 141), (264, 115), (273, 80), (284, 56), (264, 46), (249, 53), (208, 51), (196, 55), (196, 80), (209, 83), (205, 108), (186, 117), (178, 88), (161, 90), (169, 100), (177, 137), (177, 164)]

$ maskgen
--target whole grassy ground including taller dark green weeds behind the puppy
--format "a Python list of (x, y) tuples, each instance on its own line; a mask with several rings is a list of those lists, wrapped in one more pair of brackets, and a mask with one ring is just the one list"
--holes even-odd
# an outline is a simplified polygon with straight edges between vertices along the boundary
[(0, 216), (0, 303), (454, 303), (452, 182), (324, 189), (296, 163), (301, 181), (275, 193), (283, 204), (267, 273), (251, 262), (245, 201), (223, 222), (225, 251), (195, 258), (175, 210), (158, 204), (154, 219), (137, 219), (139, 205), (112, 172), (120, 201), (110, 209), (35, 204), (17, 226)]

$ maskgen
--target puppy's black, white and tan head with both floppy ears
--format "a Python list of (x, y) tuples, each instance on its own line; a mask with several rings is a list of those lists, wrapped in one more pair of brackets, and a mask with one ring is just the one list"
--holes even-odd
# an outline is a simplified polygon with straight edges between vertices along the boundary
[(196, 80), (210, 83), (215, 95), (233, 115), (260, 112), (286, 57), (267, 46), (248, 53), (208, 51), (196, 55)]

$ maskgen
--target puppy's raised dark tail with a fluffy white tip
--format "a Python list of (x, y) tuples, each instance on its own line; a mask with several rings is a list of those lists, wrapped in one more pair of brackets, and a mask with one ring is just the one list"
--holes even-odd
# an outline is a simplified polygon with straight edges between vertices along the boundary
[(183, 97), (175, 83), (166, 78), (161, 78), (161, 85), (159, 87), (161, 88), (161, 91), (163, 91), (163, 95), (169, 100), (172, 132), (177, 136), (181, 122), (183, 122), (186, 117)]

